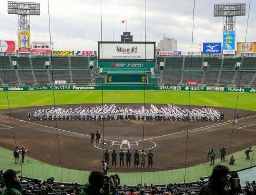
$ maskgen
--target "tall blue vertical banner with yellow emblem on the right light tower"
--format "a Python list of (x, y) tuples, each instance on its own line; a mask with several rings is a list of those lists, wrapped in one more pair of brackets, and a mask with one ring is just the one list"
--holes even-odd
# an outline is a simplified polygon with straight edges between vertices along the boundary
[(224, 54), (235, 54), (235, 31), (224, 31), (223, 32), (223, 53)]

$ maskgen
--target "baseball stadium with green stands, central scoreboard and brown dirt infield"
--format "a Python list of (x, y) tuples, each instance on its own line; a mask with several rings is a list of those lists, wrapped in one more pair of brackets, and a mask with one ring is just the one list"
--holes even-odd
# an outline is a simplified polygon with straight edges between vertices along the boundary
[[(220, 11), (227, 5), (214, 5), (214, 16), (244, 16), (248, 26), (245, 3), (233, 3), (240, 12), (228, 16)], [(24, 6), (32, 12), (21, 13)], [(225, 165), (243, 188), (256, 186), (256, 43), (247, 34), (235, 40), (235, 22), (224, 21), (223, 42), (202, 43), (200, 52), (193, 29), (192, 48), (183, 52), (161, 51), (146, 39), (146, 27), (137, 41), (127, 26), (117, 41), (103, 40), (101, 27), (96, 51), (69, 51), (53, 48), (51, 30), (47, 42), (30, 41), (33, 28), (24, 19), (40, 15), (40, 3), (8, 1), (8, 14), (18, 15), (19, 27), (17, 45), (2, 39), (0, 45), (3, 172), (82, 185), (91, 171), (103, 171), (103, 162), (106, 175), (118, 173), (118, 192), (175, 184), (181, 190), (172, 194), (199, 194), (213, 167)], [(0, 189), (3, 181), (0, 175)], [(34, 191), (22, 194), (43, 194)]]

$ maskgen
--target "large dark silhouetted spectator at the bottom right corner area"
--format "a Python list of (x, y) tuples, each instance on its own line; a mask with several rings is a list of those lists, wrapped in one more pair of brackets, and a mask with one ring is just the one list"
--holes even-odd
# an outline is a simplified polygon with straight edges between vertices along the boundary
[(200, 190), (200, 195), (222, 194), (228, 195), (225, 190), (226, 183), (228, 182), (229, 168), (224, 165), (216, 165), (213, 168), (212, 175), (209, 177), (207, 184), (204, 184)]

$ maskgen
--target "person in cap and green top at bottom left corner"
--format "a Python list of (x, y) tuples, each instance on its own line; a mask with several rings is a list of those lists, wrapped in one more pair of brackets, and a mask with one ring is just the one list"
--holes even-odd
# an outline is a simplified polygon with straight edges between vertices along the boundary
[(22, 187), (19, 183), (18, 173), (20, 171), (14, 171), (13, 169), (8, 169), (3, 173), (3, 179), (5, 180), (5, 190), (3, 190), (3, 195), (21, 195)]

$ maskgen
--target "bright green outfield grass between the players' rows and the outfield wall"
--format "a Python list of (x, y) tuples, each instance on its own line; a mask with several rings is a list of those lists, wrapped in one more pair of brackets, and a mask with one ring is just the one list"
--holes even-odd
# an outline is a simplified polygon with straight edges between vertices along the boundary
[[(214, 107), (235, 108), (237, 93), (234, 92), (189, 92), (146, 91), (146, 103), (175, 103), (179, 105), (208, 105)], [(102, 103), (102, 91), (52, 91), (8, 92), (10, 108)], [(104, 90), (104, 103), (143, 103), (143, 90)], [(256, 110), (256, 93), (239, 93), (238, 109)], [(0, 109), (8, 109), (6, 92), (0, 93)]]

